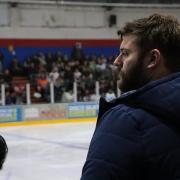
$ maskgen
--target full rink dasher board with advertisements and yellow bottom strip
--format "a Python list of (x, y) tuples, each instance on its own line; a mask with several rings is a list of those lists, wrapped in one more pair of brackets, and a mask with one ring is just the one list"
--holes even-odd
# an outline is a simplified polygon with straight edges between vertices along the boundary
[(0, 126), (96, 120), (97, 102), (18, 105), (0, 107)]

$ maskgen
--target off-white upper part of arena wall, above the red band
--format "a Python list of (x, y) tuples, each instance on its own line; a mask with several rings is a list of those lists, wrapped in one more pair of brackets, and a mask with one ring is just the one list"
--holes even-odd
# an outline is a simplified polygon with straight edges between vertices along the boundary
[(179, 5), (121, 4), (108, 7), (0, 3), (0, 37), (117, 39), (117, 30), (126, 21), (155, 12), (172, 14), (180, 19)]

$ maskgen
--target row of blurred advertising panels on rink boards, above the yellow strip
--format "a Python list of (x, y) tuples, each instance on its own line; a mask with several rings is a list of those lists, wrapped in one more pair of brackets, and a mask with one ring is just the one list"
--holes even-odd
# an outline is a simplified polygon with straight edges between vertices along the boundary
[(97, 103), (36, 104), (0, 107), (0, 123), (97, 117)]

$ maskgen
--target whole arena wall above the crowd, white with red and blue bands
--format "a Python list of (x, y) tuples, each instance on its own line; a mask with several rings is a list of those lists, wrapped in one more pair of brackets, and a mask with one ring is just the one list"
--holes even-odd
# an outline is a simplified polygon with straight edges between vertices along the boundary
[(87, 55), (116, 56), (119, 53), (118, 28), (128, 20), (154, 12), (180, 19), (178, 5), (108, 7), (0, 3), (0, 50), (4, 66), (9, 67), (12, 61), (9, 47), (20, 62), (39, 52), (60, 51), (69, 56), (77, 41), (82, 43)]

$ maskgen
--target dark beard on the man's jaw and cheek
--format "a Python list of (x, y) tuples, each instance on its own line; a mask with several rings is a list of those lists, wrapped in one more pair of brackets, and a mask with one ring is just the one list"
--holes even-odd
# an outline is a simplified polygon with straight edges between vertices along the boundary
[(138, 89), (148, 83), (148, 78), (143, 68), (143, 58), (141, 56), (127, 74), (120, 71), (122, 83), (120, 83), (119, 88), (122, 93)]

